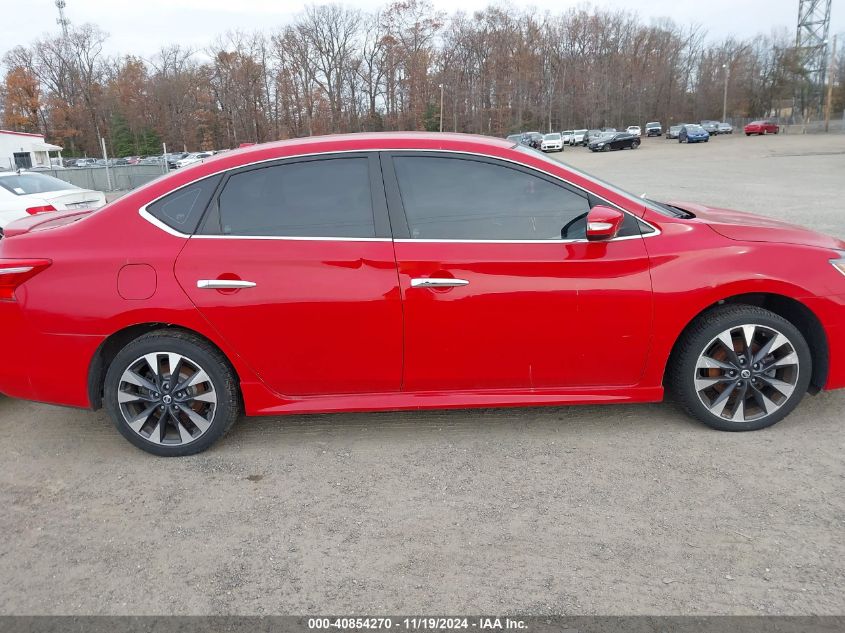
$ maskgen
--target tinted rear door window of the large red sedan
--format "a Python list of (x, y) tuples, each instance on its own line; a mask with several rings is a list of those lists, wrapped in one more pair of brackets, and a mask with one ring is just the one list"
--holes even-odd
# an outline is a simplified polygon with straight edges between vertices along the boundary
[(224, 234), (375, 237), (366, 158), (272, 165), (234, 174), (219, 199)]

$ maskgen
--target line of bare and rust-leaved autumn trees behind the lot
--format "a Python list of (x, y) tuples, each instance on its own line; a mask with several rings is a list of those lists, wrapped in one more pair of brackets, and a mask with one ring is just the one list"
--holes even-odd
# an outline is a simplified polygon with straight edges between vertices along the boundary
[[(70, 25), (3, 55), (0, 121), (70, 155), (221, 149), (381, 130), (494, 136), (778, 115), (812, 99), (784, 29), (714, 41), (698, 25), (592, 7), (436, 11), (399, 0), (367, 13), (308, 6), (272, 32), (231, 31), (201, 50), (108, 55)], [(839, 76), (843, 76), (842, 61)], [(836, 89), (835, 110), (845, 104)], [(442, 102), (442, 110), (441, 110)], [(790, 115), (792, 116), (792, 115)], [(816, 109), (815, 116), (819, 116)]]

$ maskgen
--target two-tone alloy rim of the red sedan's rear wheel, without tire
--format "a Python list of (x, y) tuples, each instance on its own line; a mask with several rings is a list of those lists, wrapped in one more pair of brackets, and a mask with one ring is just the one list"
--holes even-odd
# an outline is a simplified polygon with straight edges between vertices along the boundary
[(144, 354), (120, 377), (117, 402), (140, 437), (168, 446), (195, 441), (211, 426), (217, 391), (195, 361), (174, 352)]

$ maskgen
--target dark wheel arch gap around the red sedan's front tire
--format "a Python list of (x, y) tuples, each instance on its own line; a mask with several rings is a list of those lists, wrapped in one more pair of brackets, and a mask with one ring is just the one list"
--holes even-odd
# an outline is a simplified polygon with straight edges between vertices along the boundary
[(723, 305), (756, 306), (774, 312), (792, 323), (807, 341), (807, 345), (810, 347), (810, 355), (813, 359), (813, 375), (810, 379), (809, 392), (816, 394), (824, 388), (830, 368), (829, 348), (824, 326), (822, 326), (821, 321), (819, 321), (815, 313), (797, 299), (770, 292), (749, 292), (725, 297), (708, 305), (693, 316), (678, 334), (672, 345), (672, 350), (663, 368), (662, 384), (666, 384), (666, 369), (671, 365), (672, 358), (675, 356), (681, 341), (693, 323), (702, 315)]

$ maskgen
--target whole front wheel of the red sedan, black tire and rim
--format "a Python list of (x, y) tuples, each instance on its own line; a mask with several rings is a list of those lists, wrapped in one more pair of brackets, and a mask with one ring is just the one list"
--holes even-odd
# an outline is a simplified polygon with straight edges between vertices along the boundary
[[(771, 349), (764, 350), (766, 345)], [(768, 354), (757, 357), (764, 351)], [(681, 408), (707, 426), (756, 431), (798, 406), (812, 371), (810, 348), (792, 323), (763, 308), (724, 305), (687, 328), (672, 353), (666, 384)]]

